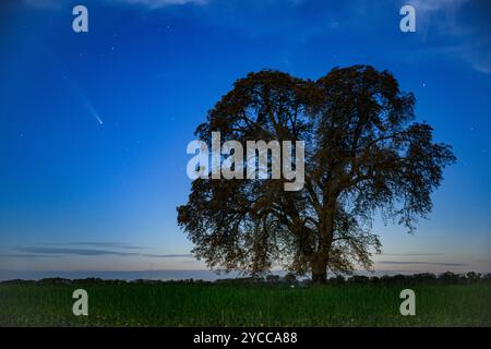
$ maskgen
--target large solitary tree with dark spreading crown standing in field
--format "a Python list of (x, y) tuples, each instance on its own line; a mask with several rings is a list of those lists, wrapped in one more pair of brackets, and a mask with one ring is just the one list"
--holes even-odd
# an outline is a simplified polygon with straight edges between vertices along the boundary
[[(306, 142), (306, 182), (196, 179), (178, 222), (212, 268), (251, 274), (274, 265), (322, 282), (327, 272), (372, 267), (381, 243), (376, 216), (411, 231), (432, 208), (451, 146), (415, 122), (415, 97), (387, 71), (335, 68), (313, 82), (278, 71), (238, 80), (208, 112), (196, 136), (211, 143)], [(244, 164), (247, 166), (247, 164)]]

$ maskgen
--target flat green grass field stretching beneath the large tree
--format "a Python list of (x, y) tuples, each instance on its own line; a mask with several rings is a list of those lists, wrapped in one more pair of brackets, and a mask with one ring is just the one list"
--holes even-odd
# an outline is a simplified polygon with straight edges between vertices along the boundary
[[(88, 316), (72, 314), (73, 290)], [(416, 292), (416, 316), (399, 292)], [(0, 285), (0, 326), (490, 326), (491, 285)]]

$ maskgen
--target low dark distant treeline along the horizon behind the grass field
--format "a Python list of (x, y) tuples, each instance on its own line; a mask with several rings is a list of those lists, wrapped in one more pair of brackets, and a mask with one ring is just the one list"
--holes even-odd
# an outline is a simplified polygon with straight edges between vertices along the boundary
[[(44, 278), (40, 280), (23, 280), (13, 279), (0, 281), (2, 285), (81, 285), (81, 284), (106, 284), (106, 285), (122, 285), (122, 284), (144, 284), (144, 285), (160, 285), (160, 284), (209, 284), (209, 285), (290, 285), (290, 286), (308, 286), (312, 281), (307, 278), (298, 278), (295, 274), (286, 274), (285, 276), (266, 275), (266, 276), (252, 276), (252, 277), (238, 277), (238, 278), (223, 278), (215, 281), (206, 281), (201, 279), (181, 279), (181, 280), (153, 280), (153, 279), (135, 279), (131, 281), (118, 280), (118, 279), (101, 279), (101, 278), (84, 278), (84, 279), (65, 279), (60, 277)], [(433, 273), (420, 273), (412, 275), (384, 275), (384, 276), (333, 276), (327, 279), (326, 285), (340, 285), (340, 284), (394, 284), (394, 282), (434, 282), (440, 285), (466, 285), (466, 284), (491, 284), (491, 273), (480, 274), (469, 272), (467, 274), (455, 274), (452, 272), (445, 272), (442, 274)]]

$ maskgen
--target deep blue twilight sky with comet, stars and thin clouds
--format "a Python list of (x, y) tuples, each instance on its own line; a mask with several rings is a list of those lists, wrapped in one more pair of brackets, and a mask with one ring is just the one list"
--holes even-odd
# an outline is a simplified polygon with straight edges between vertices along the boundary
[[(399, 31), (416, 7), (417, 33)], [(89, 32), (72, 31), (85, 4)], [(375, 222), (379, 270), (491, 272), (487, 1), (7, 1), (0, 269), (192, 269), (187, 144), (238, 77), (387, 69), (458, 163), (415, 234)], [(97, 118), (101, 120), (100, 123)]]

